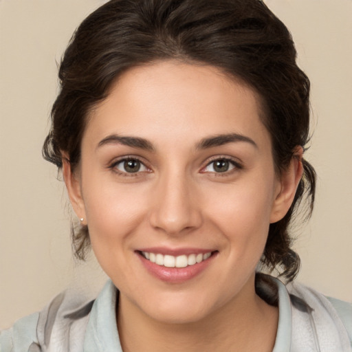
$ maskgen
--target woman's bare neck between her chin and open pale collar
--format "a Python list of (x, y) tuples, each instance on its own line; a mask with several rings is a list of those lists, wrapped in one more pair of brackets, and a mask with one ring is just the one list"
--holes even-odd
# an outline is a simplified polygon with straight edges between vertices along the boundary
[(118, 330), (124, 352), (164, 351), (272, 351), (278, 309), (267, 305), (254, 291), (234, 298), (197, 322), (170, 324), (144, 314), (120, 295)]

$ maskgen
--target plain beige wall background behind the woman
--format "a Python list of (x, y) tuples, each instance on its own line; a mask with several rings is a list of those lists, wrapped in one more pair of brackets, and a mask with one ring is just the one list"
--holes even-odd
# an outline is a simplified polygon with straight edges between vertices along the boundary
[[(97, 291), (96, 262), (75, 265), (63, 183), (41, 158), (56, 61), (98, 0), (0, 0), (0, 327), (73, 282)], [(352, 301), (352, 1), (266, 0), (294, 35), (312, 83), (316, 210), (296, 248), (299, 280)], [(298, 230), (300, 232), (300, 230)]]

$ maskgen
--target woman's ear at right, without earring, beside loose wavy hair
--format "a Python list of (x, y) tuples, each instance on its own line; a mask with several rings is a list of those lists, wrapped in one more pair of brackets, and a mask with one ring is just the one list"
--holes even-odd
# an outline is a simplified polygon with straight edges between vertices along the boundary
[(303, 175), (302, 158), (303, 148), (297, 146), (289, 166), (281, 173), (278, 180), (276, 197), (270, 214), (270, 223), (276, 223), (283, 219), (294, 201), (298, 183)]

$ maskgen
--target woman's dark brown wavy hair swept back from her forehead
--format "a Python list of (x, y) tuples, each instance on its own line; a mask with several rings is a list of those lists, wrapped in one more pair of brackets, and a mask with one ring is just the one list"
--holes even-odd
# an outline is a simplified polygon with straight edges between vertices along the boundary
[[(177, 59), (213, 65), (239, 78), (261, 97), (276, 171), (285, 170), (297, 146), (309, 140), (309, 80), (296, 65), (285, 25), (260, 0), (111, 0), (74, 33), (59, 70), (61, 91), (52, 107), (45, 159), (62, 167), (62, 151), (74, 169), (89, 111), (107, 97), (126, 69)], [(304, 175), (285, 217), (270, 225), (262, 262), (281, 267), (292, 280), (299, 257), (287, 228), (304, 195), (314, 204), (316, 176), (303, 160)], [(89, 248), (87, 227), (73, 228), (76, 256)]]

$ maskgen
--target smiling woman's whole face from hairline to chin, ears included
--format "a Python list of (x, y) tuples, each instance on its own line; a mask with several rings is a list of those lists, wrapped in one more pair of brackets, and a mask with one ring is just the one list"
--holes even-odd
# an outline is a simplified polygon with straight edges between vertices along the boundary
[(260, 111), (216, 68), (173, 61), (130, 69), (96, 107), (64, 175), (121, 304), (194, 322), (254, 296), (290, 203)]

